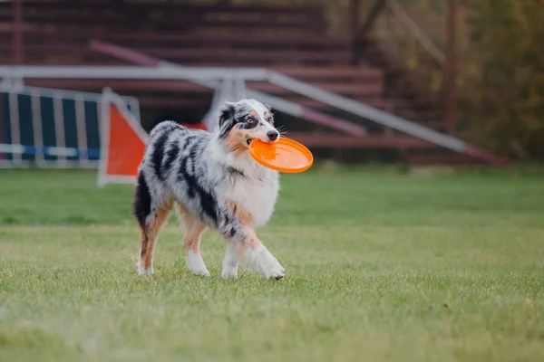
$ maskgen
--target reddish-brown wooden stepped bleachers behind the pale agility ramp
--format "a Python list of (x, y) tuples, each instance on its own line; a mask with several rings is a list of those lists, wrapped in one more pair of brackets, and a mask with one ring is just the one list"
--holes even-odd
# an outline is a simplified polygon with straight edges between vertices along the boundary
[[(0, 3), (0, 63), (12, 62), (12, 19), (12, 4)], [(443, 130), (432, 105), (388, 89), (386, 60), (376, 62), (379, 50), (369, 46), (356, 52), (354, 39), (327, 35), (325, 16), (318, 7), (24, 0), (23, 20), (24, 64), (126, 64), (90, 49), (92, 40), (101, 40), (181, 65), (265, 67)], [(209, 89), (188, 81), (28, 80), (26, 84), (89, 91), (109, 86), (136, 96), (147, 129), (167, 115), (199, 121), (211, 101)], [(388, 148), (404, 158), (412, 149), (420, 153), (437, 149), (272, 84), (249, 82), (248, 87), (350, 119), (370, 132), (355, 141), (297, 119), (277, 117), (314, 148)]]

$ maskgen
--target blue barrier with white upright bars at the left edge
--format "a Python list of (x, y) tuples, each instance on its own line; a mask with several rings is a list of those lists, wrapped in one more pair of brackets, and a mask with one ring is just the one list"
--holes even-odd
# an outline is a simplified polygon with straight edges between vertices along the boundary
[[(100, 159), (101, 94), (2, 87), (0, 160), (13, 161), (11, 167), (20, 164), (21, 160), (38, 165), (42, 161), (53, 162), (52, 167), (72, 167), (87, 161), (96, 163)], [(123, 97), (123, 100), (139, 119), (138, 100), (130, 97)]]

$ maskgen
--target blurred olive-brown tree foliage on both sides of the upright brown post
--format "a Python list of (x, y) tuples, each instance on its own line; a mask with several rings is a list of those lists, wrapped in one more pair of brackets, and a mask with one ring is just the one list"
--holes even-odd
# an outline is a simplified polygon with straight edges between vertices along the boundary
[[(445, 52), (445, 0), (397, 2)], [(444, 70), (413, 34), (388, 13), (374, 34), (389, 60), (403, 62), (416, 90), (443, 109)], [(463, 138), (510, 157), (544, 160), (544, 0), (460, 1), (457, 48)]]

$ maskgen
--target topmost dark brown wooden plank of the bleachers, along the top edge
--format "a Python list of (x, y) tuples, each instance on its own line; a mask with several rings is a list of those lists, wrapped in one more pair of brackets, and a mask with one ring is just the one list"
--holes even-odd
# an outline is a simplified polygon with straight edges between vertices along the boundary
[[(2, 3), (0, 3), (2, 4)], [(0, 8), (1, 10), (2, 8)], [(308, 8), (281, 9), (274, 6), (183, 6), (183, 5), (93, 5), (74, 2), (26, 2), (24, 17), (28, 22), (53, 24), (118, 24), (138, 20), (140, 24), (157, 26), (194, 27), (199, 25), (258, 28), (291, 27), (325, 30), (321, 11), (312, 13)], [(283, 11), (282, 11), (283, 10)], [(152, 15), (152, 16), (151, 16)], [(0, 11), (5, 21), (9, 14)]]

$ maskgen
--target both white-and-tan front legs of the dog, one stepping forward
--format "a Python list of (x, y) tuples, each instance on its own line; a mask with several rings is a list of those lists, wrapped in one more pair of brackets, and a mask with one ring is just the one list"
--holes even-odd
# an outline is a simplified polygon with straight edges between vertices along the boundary
[(258, 240), (252, 229), (236, 223), (221, 231), (227, 240), (227, 251), (223, 261), (223, 278), (236, 278), (238, 262), (249, 269), (260, 271), (267, 279), (279, 280), (286, 271), (267, 247)]

